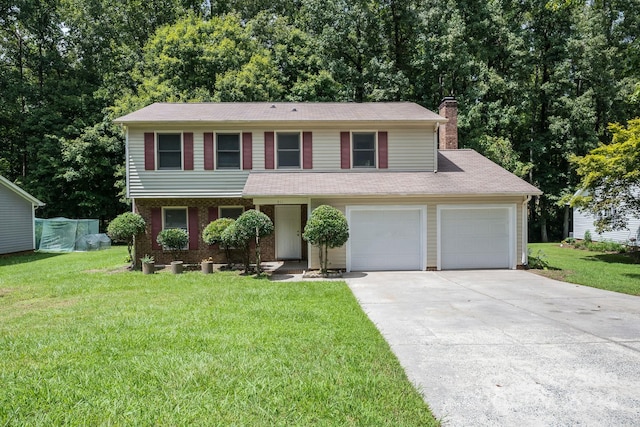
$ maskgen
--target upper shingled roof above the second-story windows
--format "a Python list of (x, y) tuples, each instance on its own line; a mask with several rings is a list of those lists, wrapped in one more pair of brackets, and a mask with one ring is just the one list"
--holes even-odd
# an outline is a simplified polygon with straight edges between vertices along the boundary
[(412, 102), (207, 102), (155, 103), (115, 123), (446, 122)]

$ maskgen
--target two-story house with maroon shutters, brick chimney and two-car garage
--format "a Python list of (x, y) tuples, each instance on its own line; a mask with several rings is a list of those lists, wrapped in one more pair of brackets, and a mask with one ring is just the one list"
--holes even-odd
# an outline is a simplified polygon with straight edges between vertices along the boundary
[[(138, 254), (168, 260), (163, 228), (190, 236), (185, 261), (212, 253), (209, 222), (255, 208), (274, 222), (263, 259), (304, 259), (311, 211), (343, 211), (350, 238), (330, 253), (347, 270), (516, 268), (527, 259), (527, 201), (540, 191), (459, 150), (456, 101), (157, 103), (126, 128), (127, 194), (147, 221)], [(440, 145), (440, 147), (438, 147)]]

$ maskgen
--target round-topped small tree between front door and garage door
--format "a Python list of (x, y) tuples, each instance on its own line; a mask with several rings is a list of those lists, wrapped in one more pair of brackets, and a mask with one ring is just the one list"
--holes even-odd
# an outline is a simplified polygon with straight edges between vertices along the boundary
[(320, 250), (320, 272), (327, 274), (329, 248), (339, 248), (349, 240), (347, 218), (332, 206), (318, 206), (311, 212), (302, 237)]

